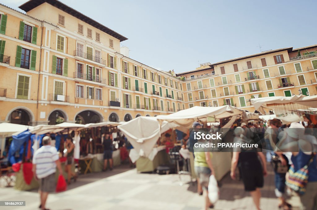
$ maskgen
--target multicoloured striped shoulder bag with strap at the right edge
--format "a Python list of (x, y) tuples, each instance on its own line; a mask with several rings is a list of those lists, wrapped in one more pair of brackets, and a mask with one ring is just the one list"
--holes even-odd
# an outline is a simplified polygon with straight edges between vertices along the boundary
[(308, 166), (313, 162), (314, 157), (315, 153), (312, 153), (308, 163), (297, 171), (294, 169), (294, 164), (292, 164), (289, 168), (289, 175), (286, 179), (286, 185), (299, 195), (303, 195), (306, 192), (306, 185), (308, 182)]

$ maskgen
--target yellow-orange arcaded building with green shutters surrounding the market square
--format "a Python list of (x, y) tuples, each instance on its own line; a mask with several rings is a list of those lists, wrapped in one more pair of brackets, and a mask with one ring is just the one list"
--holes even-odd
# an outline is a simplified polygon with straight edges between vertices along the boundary
[(316, 94), (316, 46), (171, 75), (131, 59), (126, 37), (59, 1), (20, 8), (0, 5), (0, 122), (120, 122), (194, 105), (255, 111), (252, 97)]

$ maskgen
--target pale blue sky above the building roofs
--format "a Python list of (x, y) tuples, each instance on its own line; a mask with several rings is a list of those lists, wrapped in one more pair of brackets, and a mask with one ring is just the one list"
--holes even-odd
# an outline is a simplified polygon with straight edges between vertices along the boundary
[[(1, 0), (17, 9), (27, 0)], [(130, 57), (159, 70), (194, 70), (284, 47), (317, 44), (317, 1), (61, 0), (127, 37)]]

